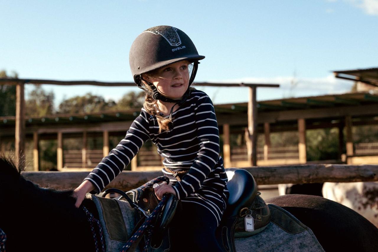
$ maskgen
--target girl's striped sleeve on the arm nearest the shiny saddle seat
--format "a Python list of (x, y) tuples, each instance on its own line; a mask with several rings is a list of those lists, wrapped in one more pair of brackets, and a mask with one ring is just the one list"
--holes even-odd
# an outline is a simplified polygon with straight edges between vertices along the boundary
[(217, 118), (212, 101), (205, 93), (196, 101), (195, 123), (199, 151), (188, 173), (174, 186), (179, 199), (189, 196), (201, 187), (209, 173), (214, 170), (219, 157)]

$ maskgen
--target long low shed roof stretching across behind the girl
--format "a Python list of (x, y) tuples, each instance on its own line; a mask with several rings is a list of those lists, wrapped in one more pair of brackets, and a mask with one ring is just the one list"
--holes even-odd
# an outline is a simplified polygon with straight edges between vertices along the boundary
[[(332, 108), (342, 106), (377, 105), (378, 93), (359, 92), (344, 93), (335, 95), (307, 96), (299, 98), (283, 98), (277, 100), (258, 101), (258, 112), (272, 112), (282, 110), (306, 110), (318, 108)], [(248, 103), (216, 104), (215, 112), (219, 114), (247, 112)], [(96, 123), (110, 121), (132, 121), (139, 114), (140, 109), (129, 109), (124, 111), (99, 112), (91, 114), (56, 114), (44, 117), (26, 117), (27, 126), (43, 126), (43, 124), (62, 123)], [(14, 116), (0, 117), (1, 125), (12, 125), (15, 123)]]

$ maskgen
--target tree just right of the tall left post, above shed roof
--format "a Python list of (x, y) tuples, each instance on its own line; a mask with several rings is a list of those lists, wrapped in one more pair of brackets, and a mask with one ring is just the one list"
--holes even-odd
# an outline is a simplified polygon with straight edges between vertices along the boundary
[(34, 85), (25, 101), (26, 115), (43, 117), (54, 114), (54, 93), (46, 93), (40, 85)]

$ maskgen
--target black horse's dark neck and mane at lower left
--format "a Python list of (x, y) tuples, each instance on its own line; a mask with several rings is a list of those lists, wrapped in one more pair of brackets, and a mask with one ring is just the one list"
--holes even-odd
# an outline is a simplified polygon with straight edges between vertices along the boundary
[(0, 227), (8, 237), (7, 250), (19, 251), (28, 243), (39, 251), (70, 251), (72, 243), (78, 251), (91, 249), (90, 226), (84, 211), (74, 206), (72, 191), (40, 188), (23, 177), (0, 191), (0, 205), (6, 206), (0, 207)]

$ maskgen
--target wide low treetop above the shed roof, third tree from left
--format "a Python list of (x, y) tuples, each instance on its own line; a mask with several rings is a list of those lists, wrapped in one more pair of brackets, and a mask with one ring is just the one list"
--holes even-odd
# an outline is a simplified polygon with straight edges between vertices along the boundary
[(59, 104), (58, 112), (62, 114), (89, 114), (114, 110), (116, 102), (105, 101), (104, 97), (87, 93), (84, 96), (74, 96)]

